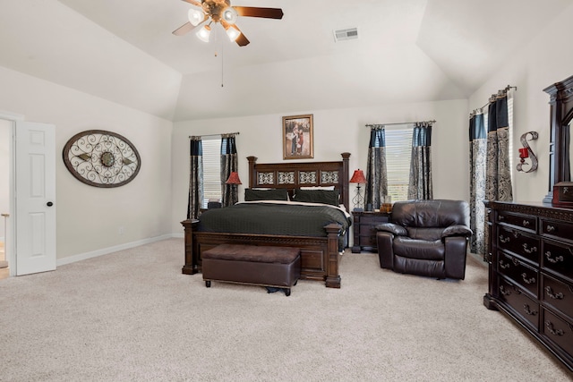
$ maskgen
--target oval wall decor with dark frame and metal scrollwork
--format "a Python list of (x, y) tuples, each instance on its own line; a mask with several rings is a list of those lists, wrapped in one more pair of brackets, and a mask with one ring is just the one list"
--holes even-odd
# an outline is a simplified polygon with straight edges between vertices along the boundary
[(94, 187), (120, 187), (140, 171), (141, 157), (133, 143), (115, 132), (89, 130), (64, 146), (64, 164), (80, 182)]

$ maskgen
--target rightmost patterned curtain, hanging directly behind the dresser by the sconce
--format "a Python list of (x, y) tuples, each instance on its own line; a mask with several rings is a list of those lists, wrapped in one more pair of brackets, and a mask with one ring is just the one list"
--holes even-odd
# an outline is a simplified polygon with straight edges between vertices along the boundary
[(488, 107), (485, 199), (509, 201), (511, 166), (509, 164), (509, 109), (507, 90), (492, 96)]

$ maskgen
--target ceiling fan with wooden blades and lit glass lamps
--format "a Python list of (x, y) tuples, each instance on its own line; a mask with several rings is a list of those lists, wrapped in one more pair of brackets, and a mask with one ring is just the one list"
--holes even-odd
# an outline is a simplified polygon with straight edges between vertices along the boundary
[[(173, 31), (175, 36), (182, 36), (202, 25), (197, 31), (197, 37), (209, 42), (211, 24), (220, 23), (227, 32), (228, 38), (235, 41), (239, 47), (249, 44), (249, 40), (235, 25), (237, 16), (261, 17), (265, 19), (282, 19), (283, 10), (280, 8), (261, 8), (253, 6), (231, 6), (230, 0), (183, 0), (198, 8), (189, 10), (189, 21)], [(208, 22), (209, 21), (209, 22)]]

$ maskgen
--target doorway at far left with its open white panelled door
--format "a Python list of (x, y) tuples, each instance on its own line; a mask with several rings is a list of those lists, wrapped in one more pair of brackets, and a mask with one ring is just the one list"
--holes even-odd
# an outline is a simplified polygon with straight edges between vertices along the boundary
[(5, 221), (4, 216), (0, 219), (0, 237), (4, 237), (7, 273), (21, 276), (54, 270), (56, 126), (0, 112), (0, 134), (7, 145), (4, 158), (0, 157), (0, 183), (4, 184), (0, 203), (5, 203), (0, 208), (7, 206), (6, 212), (0, 211), (6, 215)]

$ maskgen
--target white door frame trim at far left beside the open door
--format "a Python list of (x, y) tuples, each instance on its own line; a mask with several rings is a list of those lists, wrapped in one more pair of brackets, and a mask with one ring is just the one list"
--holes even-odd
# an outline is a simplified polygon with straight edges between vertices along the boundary
[(10, 276), (16, 276), (16, 252), (14, 251), (14, 244), (16, 240), (15, 233), (15, 211), (16, 211), (16, 184), (15, 184), (15, 168), (16, 168), (16, 148), (14, 142), (16, 122), (24, 121), (24, 115), (17, 115), (9, 112), (4, 112), (0, 110), (0, 119), (12, 123), (10, 132), (10, 174), (8, 177), (8, 182), (10, 183), (10, 210), (8, 213), (10, 216), (6, 219), (6, 236), (4, 242), (8, 242), (8, 248), (5, 252), (6, 260), (8, 261), (8, 267), (10, 269)]

